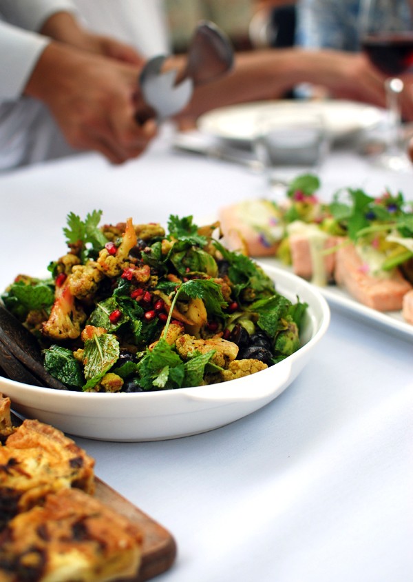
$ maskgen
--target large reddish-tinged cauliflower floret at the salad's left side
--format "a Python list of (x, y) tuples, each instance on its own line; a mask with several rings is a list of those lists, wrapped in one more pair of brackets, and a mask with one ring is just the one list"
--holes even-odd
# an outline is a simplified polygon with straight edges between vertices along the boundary
[(85, 319), (86, 314), (76, 306), (66, 280), (53, 303), (49, 319), (41, 326), (41, 332), (55, 340), (77, 339)]

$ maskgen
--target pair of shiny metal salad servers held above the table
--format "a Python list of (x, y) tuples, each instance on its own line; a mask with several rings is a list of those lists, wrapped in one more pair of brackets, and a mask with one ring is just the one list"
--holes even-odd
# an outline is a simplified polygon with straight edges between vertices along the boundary
[(233, 66), (233, 48), (215, 24), (198, 24), (188, 50), (187, 66), (177, 80), (178, 70), (162, 72), (167, 55), (147, 61), (140, 74), (142, 97), (155, 112), (158, 121), (180, 112), (189, 103), (193, 88), (228, 72)]

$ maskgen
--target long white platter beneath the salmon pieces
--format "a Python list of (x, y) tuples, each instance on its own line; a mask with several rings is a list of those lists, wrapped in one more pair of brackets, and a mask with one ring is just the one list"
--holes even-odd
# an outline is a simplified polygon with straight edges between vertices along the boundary
[[(264, 268), (273, 266), (277, 269), (285, 270), (286, 272), (293, 272), (291, 267), (284, 265), (278, 259), (256, 259), (257, 263), (261, 263)], [(328, 301), (331, 306), (338, 308), (349, 314), (352, 317), (359, 319), (360, 317), (374, 328), (381, 328), (390, 334), (398, 337), (403, 337), (407, 340), (413, 339), (413, 325), (407, 323), (403, 318), (401, 311), (380, 312), (374, 310), (356, 299), (336, 285), (326, 285), (326, 287), (317, 287), (319, 292)]]

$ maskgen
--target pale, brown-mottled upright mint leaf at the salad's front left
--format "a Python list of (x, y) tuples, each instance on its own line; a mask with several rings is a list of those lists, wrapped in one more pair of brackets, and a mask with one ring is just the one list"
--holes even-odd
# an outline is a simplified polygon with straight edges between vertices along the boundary
[(118, 361), (119, 354), (119, 342), (113, 334), (94, 334), (92, 339), (85, 341), (84, 373), (87, 382), (83, 390), (93, 388)]

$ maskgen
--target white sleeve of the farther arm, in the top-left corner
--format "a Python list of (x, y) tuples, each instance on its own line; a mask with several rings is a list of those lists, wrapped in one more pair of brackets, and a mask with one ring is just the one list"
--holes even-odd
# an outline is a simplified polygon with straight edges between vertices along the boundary
[(3, 19), (26, 30), (39, 30), (55, 12), (76, 12), (71, 0), (0, 0)]

